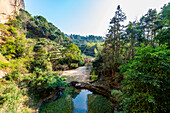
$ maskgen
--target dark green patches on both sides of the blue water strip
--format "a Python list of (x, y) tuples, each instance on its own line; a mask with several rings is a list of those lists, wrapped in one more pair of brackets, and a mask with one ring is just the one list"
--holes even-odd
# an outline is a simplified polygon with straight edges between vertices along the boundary
[[(40, 113), (72, 113), (72, 98), (76, 98), (80, 90), (68, 87), (58, 100), (46, 103), (40, 108)], [(88, 113), (112, 113), (113, 104), (101, 95), (88, 95)]]

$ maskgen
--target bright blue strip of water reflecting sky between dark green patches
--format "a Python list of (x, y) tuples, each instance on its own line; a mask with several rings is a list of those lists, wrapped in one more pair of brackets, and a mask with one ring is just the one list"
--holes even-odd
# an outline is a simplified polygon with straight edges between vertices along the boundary
[(74, 110), (73, 113), (86, 113), (88, 111), (88, 95), (92, 92), (88, 90), (81, 90), (75, 99), (72, 99)]

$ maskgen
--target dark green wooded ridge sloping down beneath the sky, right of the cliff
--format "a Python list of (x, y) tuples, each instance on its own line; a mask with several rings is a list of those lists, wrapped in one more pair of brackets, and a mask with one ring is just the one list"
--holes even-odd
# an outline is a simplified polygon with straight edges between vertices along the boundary
[(47, 38), (64, 46), (67, 46), (71, 42), (60, 29), (42, 16), (32, 17), (27, 11), (21, 9), (20, 15), (17, 18), (23, 29), (27, 30), (27, 38)]

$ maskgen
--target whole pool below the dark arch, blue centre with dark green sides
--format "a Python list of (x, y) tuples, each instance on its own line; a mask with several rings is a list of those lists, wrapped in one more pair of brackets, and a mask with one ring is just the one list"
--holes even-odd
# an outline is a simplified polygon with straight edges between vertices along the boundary
[(112, 113), (112, 103), (91, 91), (68, 87), (58, 100), (46, 103), (40, 113)]

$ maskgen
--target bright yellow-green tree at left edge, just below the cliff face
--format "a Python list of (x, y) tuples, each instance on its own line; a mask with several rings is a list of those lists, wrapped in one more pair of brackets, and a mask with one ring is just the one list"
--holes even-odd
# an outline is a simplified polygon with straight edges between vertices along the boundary
[(27, 48), (27, 40), (25, 35), (21, 33), (22, 31), (17, 30), (17, 28), (13, 26), (8, 27), (7, 30), (9, 36), (4, 37), (6, 43), (1, 46), (1, 53), (7, 59), (19, 58), (26, 55), (26, 49), (29, 49), (29, 47)]

